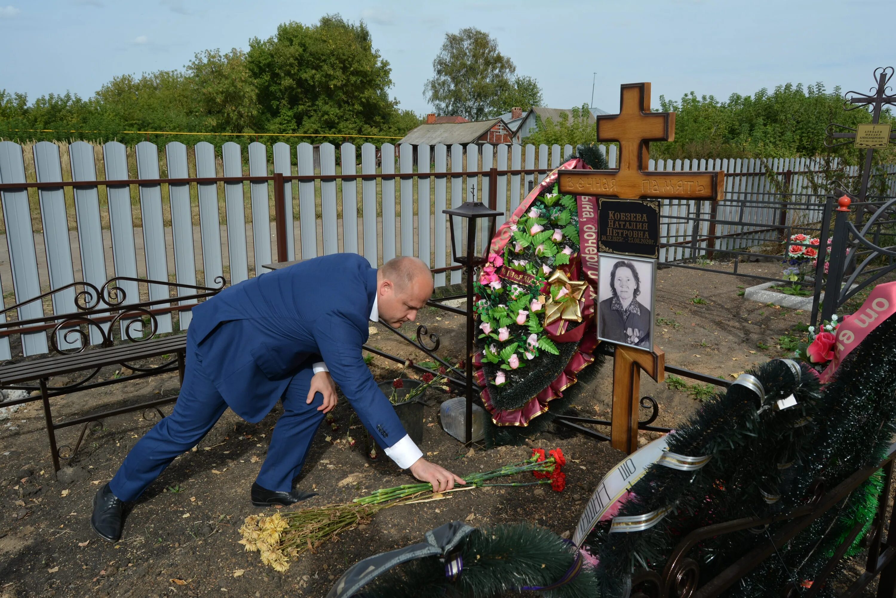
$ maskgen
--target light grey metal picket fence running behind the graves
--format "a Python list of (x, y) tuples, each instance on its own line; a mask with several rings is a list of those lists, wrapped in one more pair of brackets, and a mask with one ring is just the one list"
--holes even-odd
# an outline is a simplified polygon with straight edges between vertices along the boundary
[[(616, 147), (605, 152), (615, 168)], [(315, 153), (319, 171), (314, 169)], [(379, 148), (371, 143), (360, 148), (351, 143), (338, 148), (330, 143), (251, 143), (247, 152), (237, 143), (224, 143), (217, 152), (210, 143), (191, 148), (172, 142), (160, 159), (159, 147), (149, 142), (133, 148), (117, 142), (101, 147), (0, 142), (0, 293), (9, 307), (75, 281), (100, 287), (113, 276), (193, 285), (220, 275), (235, 284), (261, 274), (261, 266), (277, 257), (272, 218), (274, 198), (280, 196), (276, 176), (283, 177), (288, 259), (356, 252), (376, 265), (394, 256), (418, 256), (435, 269), (436, 286), (458, 283), (461, 272), (452, 263), (442, 211), (473, 197), (487, 202), (494, 181), (495, 207), (505, 214), (500, 225), (531, 186), (572, 153), (570, 145), (397, 148), (391, 143)], [(785, 188), (771, 182), (767, 168), (779, 173), (779, 179), (792, 171)], [(717, 219), (727, 222), (715, 231), (724, 248), (761, 242), (763, 226), (780, 219), (780, 196), (811, 204), (810, 210), (798, 212), (800, 218), (811, 220), (821, 213), (819, 198), (808, 186), (808, 175), (821, 169), (812, 160), (650, 160), (650, 169), (728, 173), (725, 198), (716, 206)], [(891, 191), (896, 195), (896, 177)], [(763, 204), (762, 198), (770, 196), (777, 199)], [(706, 247), (711, 231), (700, 216), (710, 209), (709, 202), (694, 200), (663, 203), (661, 240), (677, 245), (664, 247), (660, 260), (692, 256), (694, 238)], [(738, 234), (744, 232), (738, 223), (745, 222), (756, 235)], [(486, 232), (478, 232), (480, 249), (487, 244)], [(129, 301), (141, 300), (136, 284), (124, 286)], [(156, 284), (142, 299), (169, 296), (167, 286)], [(16, 316), (39, 317), (42, 309), (71, 313), (74, 298), (73, 289), (65, 290), (50, 304), (31, 303)], [(177, 327), (184, 329), (189, 319), (189, 311), (180, 312)], [(171, 332), (175, 325), (170, 314), (159, 316), (159, 333)], [(11, 345), (10, 336), (0, 337), (0, 360), (10, 359), (13, 352), (47, 352), (46, 334), (21, 336), (21, 347)], [(99, 342), (99, 334), (91, 340)], [(62, 339), (60, 346), (66, 346)]]

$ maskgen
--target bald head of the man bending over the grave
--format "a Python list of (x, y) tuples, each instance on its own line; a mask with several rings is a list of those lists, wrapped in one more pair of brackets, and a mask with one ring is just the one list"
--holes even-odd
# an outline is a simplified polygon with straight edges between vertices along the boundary
[(379, 316), (393, 328), (416, 318), (432, 295), (433, 275), (416, 257), (394, 257), (376, 272)]

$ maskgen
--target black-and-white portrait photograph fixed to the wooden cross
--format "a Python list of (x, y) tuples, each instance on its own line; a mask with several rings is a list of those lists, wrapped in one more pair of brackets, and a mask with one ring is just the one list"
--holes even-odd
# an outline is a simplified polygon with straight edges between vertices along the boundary
[(636, 349), (653, 349), (657, 262), (600, 254), (598, 339)]

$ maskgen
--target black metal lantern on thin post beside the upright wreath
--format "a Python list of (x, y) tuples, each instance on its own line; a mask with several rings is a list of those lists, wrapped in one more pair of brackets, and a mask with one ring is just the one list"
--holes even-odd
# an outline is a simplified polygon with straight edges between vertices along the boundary
[[(483, 239), (483, 244), (487, 244), (495, 236), (495, 219), (498, 216), (503, 216), (504, 212), (495, 212), (482, 202), (464, 202), (452, 210), (443, 210), (443, 212), (467, 220), (467, 250), (458, 253), (458, 246), (462, 246), (463, 240), (457, 238), (458, 233), (454, 230), (454, 219), (448, 219), (451, 226), (452, 256), (454, 261), (462, 264), (467, 272), (467, 413), (464, 420), (464, 438), (465, 442), (470, 444), (473, 440), (473, 324), (476, 314), (473, 309), (473, 277), (476, 268), (488, 261), (487, 250), (484, 256), (476, 255), (476, 221), (482, 218), (489, 219), (488, 238)], [(461, 251), (462, 249), (463, 247), (461, 247)]]

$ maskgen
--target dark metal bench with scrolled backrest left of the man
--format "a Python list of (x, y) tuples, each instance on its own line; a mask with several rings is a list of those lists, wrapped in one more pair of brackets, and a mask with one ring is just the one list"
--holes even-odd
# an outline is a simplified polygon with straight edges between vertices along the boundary
[[(0, 407), (36, 401), (43, 403), (50, 454), (56, 471), (59, 471), (62, 461), (71, 461), (77, 454), (91, 423), (99, 423), (101, 426), (103, 418), (141, 410), (144, 412), (154, 410), (159, 417), (164, 417), (159, 406), (175, 402), (177, 395), (129, 404), (107, 411), (91, 412), (61, 422), (53, 420), (50, 399), (90, 388), (173, 371), (178, 372), (180, 380), (183, 382), (186, 334), (157, 337), (158, 316), (189, 310), (193, 308), (197, 300), (215, 295), (224, 288), (225, 281), (219, 277), (215, 279), (215, 282), (218, 284), (217, 287), (201, 287), (177, 282), (159, 282), (119, 276), (109, 280), (100, 288), (88, 282), (73, 282), (39, 297), (22, 301), (11, 308), (6, 308), (4, 316), (22, 315), (23, 307), (35, 302), (39, 302), (39, 306), (42, 306), (44, 299), (67, 291), (69, 296), (74, 293), (77, 311), (0, 322), (0, 337), (8, 337), (12, 334), (30, 334), (33, 338), (34, 334), (48, 332), (49, 347), (47, 350), (56, 353), (37, 358), (26, 358), (20, 362), (5, 361), (3, 365), (0, 365), (0, 389), (23, 390), (30, 393), (28, 396), (4, 401), (0, 403)], [(186, 295), (171, 296), (166, 299), (128, 303), (125, 290), (119, 286), (123, 283), (130, 283), (132, 290), (138, 290), (138, 297), (135, 299), (139, 299), (140, 285), (164, 285), (190, 292)], [(42, 308), (41, 311), (43, 311)], [(91, 348), (91, 344), (97, 346)], [(134, 364), (135, 361), (162, 356), (170, 356), (171, 359), (158, 365)], [(132, 373), (120, 377), (99, 379), (100, 370), (109, 366), (128, 368)], [(50, 384), (50, 379), (53, 377), (81, 372), (83, 372), (82, 376), (73, 382), (57, 386)], [(34, 391), (39, 391), (39, 393)], [(58, 446), (56, 430), (77, 425), (82, 425), (82, 429), (74, 446)]]

